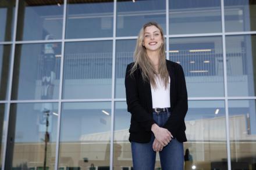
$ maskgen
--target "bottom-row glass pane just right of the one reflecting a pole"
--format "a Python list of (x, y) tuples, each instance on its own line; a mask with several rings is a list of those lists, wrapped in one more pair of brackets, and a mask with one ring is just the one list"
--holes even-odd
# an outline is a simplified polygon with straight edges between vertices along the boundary
[(109, 169), (111, 102), (63, 103), (59, 168)]

